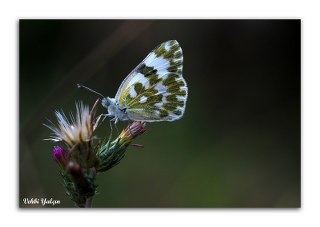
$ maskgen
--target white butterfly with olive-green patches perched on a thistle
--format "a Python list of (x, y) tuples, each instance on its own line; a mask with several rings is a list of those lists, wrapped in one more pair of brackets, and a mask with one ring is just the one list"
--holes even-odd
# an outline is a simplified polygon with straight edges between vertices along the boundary
[(115, 98), (104, 97), (83, 85), (78, 87), (103, 97), (115, 124), (132, 120), (143, 122), (175, 121), (186, 109), (188, 87), (182, 76), (183, 54), (176, 40), (161, 43), (121, 83)]

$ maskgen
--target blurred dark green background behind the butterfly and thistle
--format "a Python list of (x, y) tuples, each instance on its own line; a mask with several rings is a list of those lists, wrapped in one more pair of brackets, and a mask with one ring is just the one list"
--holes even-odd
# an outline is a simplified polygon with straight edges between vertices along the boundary
[(32, 207), (25, 197), (74, 207), (42, 124), (94, 103), (76, 84), (113, 97), (169, 39), (184, 52), (185, 116), (148, 124), (145, 148), (99, 175), (93, 206), (300, 207), (300, 20), (20, 20), (21, 207)]

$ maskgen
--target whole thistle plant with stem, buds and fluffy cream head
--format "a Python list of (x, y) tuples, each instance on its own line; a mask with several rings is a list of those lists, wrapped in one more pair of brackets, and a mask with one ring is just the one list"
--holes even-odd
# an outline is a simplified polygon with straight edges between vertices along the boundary
[(53, 132), (47, 140), (66, 144), (65, 149), (54, 146), (52, 155), (60, 166), (67, 195), (79, 207), (90, 206), (96, 194), (97, 173), (117, 165), (133, 139), (145, 132), (145, 123), (137, 121), (124, 129), (115, 140), (111, 141), (110, 135), (107, 142), (96, 143), (93, 133), (103, 116), (94, 119), (99, 102), (100, 99), (91, 111), (82, 103), (76, 104), (75, 117), (70, 114), (69, 119), (62, 111), (56, 111), (58, 123), (45, 125)]

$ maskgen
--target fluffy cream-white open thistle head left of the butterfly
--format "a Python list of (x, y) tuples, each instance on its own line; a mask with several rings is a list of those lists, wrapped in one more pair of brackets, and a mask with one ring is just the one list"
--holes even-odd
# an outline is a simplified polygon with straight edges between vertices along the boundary
[(90, 141), (93, 135), (93, 119), (89, 111), (89, 107), (81, 102), (76, 104), (76, 115), (71, 113), (70, 120), (64, 112), (56, 111), (55, 115), (58, 120), (58, 126), (46, 125), (52, 130), (53, 134), (48, 140), (54, 142), (63, 141), (69, 147), (72, 147), (81, 142)]

